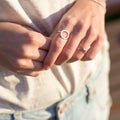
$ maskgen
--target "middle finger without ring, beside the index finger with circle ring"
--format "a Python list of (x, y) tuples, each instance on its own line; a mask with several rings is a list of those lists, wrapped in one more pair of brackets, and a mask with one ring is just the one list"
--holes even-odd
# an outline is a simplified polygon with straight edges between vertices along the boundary
[(88, 26), (81, 27), (78, 24), (73, 28), (71, 32), (71, 38), (68, 41), (68, 43), (65, 45), (62, 53), (60, 54), (59, 58), (56, 61), (56, 64), (62, 64), (71, 59), (80, 41), (85, 36), (87, 36), (87, 30), (88, 30)]

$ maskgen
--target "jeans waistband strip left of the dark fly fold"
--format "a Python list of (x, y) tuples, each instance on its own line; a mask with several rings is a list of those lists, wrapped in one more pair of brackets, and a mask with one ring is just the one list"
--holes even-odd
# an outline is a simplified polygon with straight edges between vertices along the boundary
[(0, 114), (0, 120), (56, 120), (56, 105), (46, 109)]

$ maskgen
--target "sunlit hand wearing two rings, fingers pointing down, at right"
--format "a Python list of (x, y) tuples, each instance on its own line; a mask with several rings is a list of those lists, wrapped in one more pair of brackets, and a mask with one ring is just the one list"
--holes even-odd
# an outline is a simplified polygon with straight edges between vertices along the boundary
[(77, 0), (51, 35), (44, 69), (68, 61), (92, 60), (103, 45), (104, 17), (105, 8), (99, 4), (91, 0)]

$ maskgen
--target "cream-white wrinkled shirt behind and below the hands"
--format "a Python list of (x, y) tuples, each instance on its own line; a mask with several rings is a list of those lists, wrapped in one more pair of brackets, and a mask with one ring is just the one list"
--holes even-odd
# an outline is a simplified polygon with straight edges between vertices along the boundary
[[(50, 35), (74, 0), (0, 0), (0, 21), (28, 25)], [(106, 49), (103, 47), (102, 51)], [(102, 52), (89, 62), (53, 66), (38, 77), (0, 67), (0, 112), (43, 108), (77, 92), (94, 76)]]

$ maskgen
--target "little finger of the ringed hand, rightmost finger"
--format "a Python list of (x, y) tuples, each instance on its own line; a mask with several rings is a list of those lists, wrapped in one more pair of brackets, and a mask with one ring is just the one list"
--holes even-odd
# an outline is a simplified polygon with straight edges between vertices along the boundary
[(86, 61), (86, 60), (94, 59), (96, 57), (97, 53), (100, 51), (102, 44), (103, 44), (103, 40), (101, 40), (99, 38), (97, 40), (95, 40), (92, 43), (91, 48), (87, 51), (85, 56), (82, 58), (82, 60)]

